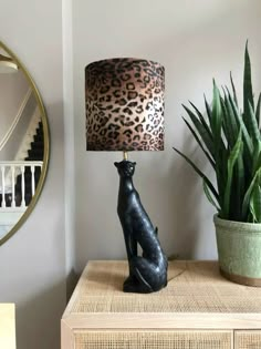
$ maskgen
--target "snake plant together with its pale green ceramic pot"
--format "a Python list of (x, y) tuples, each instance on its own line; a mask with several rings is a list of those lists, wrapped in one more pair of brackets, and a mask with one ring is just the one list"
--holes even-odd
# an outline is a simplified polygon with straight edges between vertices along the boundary
[(217, 208), (213, 217), (220, 271), (228, 279), (261, 286), (261, 133), (260, 104), (254, 103), (248, 43), (244, 52), (243, 109), (239, 107), (232, 75), (231, 89), (213, 81), (212, 103), (206, 114), (190, 102), (184, 121), (213, 167), (217, 183), (177, 148), (202, 178), (203, 191)]

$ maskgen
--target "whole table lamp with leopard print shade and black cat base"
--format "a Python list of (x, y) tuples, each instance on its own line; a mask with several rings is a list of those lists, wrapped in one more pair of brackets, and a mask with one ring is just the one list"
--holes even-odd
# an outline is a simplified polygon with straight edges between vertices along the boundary
[[(167, 258), (133, 184), (130, 151), (164, 150), (164, 66), (121, 58), (85, 68), (87, 151), (122, 151), (117, 213), (123, 227), (129, 275), (126, 292), (147, 294), (167, 285)], [(143, 253), (138, 254), (138, 245)]]

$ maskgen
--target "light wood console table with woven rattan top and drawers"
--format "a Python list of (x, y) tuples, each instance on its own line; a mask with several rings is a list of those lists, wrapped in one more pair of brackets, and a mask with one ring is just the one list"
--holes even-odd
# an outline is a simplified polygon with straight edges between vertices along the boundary
[(125, 261), (90, 261), (61, 321), (62, 349), (260, 349), (261, 288), (216, 261), (169, 263), (168, 286), (124, 294)]

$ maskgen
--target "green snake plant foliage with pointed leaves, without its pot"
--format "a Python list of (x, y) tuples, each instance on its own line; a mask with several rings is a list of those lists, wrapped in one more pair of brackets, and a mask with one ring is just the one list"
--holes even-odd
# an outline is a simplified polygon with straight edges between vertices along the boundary
[(239, 107), (230, 73), (230, 89), (213, 80), (212, 103), (206, 113), (195, 104), (182, 105), (186, 125), (216, 173), (216, 184), (184, 153), (174, 147), (202, 178), (203, 191), (220, 218), (261, 223), (261, 133), (259, 94), (254, 103), (248, 43), (244, 51), (243, 109)]

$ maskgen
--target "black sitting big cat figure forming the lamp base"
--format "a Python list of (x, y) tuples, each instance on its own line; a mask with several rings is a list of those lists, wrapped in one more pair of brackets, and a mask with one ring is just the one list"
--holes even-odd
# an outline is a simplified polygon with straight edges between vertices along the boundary
[[(129, 276), (123, 289), (126, 292), (148, 294), (167, 285), (167, 258), (139, 195), (133, 184), (136, 163), (114, 163), (119, 174), (117, 213), (123, 227), (129, 265)], [(137, 245), (143, 249), (138, 256)]]

